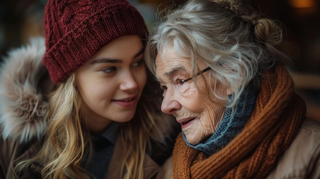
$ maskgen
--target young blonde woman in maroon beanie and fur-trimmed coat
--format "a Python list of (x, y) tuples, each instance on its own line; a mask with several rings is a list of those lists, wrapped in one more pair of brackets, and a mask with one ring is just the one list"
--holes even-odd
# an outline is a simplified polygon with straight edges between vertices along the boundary
[(141, 14), (126, 1), (50, 0), (44, 35), (2, 65), (0, 178), (155, 177), (175, 121), (144, 64)]

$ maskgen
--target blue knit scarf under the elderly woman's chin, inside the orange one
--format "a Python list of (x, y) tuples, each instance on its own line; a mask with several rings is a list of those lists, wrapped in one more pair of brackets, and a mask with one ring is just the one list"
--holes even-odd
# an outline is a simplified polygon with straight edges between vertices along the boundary
[[(234, 95), (229, 97), (232, 101)], [(232, 108), (226, 108), (221, 123), (218, 125), (217, 130), (208, 139), (199, 144), (193, 145), (188, 143), (185, 134), (182, 136), (189, 147), (196, 150), (203, 151), (205, 154), (211, 156), (219, 151), (222, 147), (226, 146), (232, 139), (234, 139), (243, 129), (248, 118), (250, 117), (256, 101), (256, 94), (254, 86), (249, 83), (243, 90), (240, 98), (237, 100), (232, 115)]]

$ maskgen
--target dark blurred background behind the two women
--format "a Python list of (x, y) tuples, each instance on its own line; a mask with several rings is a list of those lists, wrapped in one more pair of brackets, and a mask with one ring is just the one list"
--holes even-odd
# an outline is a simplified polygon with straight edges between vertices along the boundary
[[(250, 4), (285, 26), (287, 53), (298, 92), (307, 103), (307, 116), (320, 121), (320, 1), (319, 0), (248, 0)], [(157, 10), (179, 5), (182, 0), (129, 0), (144, 16), (150, 30)], [(8, 50), (42, 35), (42, 18), (47, 0), (0, 1), (0, 57)]]

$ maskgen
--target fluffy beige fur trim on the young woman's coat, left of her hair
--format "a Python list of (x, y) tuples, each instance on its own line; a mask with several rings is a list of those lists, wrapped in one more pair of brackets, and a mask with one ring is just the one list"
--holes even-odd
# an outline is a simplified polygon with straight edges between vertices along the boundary
[(40, 138), (47, 128), (48, 103), (44, 100), (42, 82), (49, 77), (41, 62), (44, 52), (44, 38), (40, 37), (31, 39), (29, 45), (11, 50), (2, 59), (0, 131), (4, 139), (25, 143)]

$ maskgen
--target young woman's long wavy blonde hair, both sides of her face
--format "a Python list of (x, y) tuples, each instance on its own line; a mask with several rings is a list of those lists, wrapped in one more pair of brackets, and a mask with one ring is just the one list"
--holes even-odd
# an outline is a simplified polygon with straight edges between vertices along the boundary
[[(152, 74), (147, 70), (147, 83), (132, 120), (121, 125), (120, 135), (125, 156), (122, 178), (143, 178), (145, 155), (151, 152), (151, 141), (166, 149), (166, 141), (174, 129), (174, 120), (160, 111), (161, 94), (155, 93)], [(81, 98), (76, 88), (76, 73), (50, 94), (48, 129), (38, 153), (18, 163), (21, 171), (33, 162), (43, 164), (42, 177), (50, 179), (88, 178), (80, 161), (89, 142), (89, 132), (80, 120)]]

